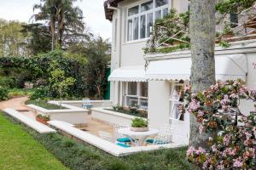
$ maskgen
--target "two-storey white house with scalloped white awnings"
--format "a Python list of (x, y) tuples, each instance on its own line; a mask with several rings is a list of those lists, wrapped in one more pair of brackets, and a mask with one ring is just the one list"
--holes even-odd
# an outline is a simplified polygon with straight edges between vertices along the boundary
[[(189, 137), (189, 115), (178, 117), (178, 91), (189, 81), (191, 54), (179, 50), (169, 54), (143, 53), (154, 20), (171, 8), (183, 13), (188, 0), (108, 0), (107, 20), (113, 23), (111, 100), (114, 105), (140, 105), (148, 109), (149, 126), (172, 123), (174, 135)], [(241, 78), (256, 87), (256, 40), (231, 42), (230, 48), (216, 47), (216, 78)], [(242, 111), (251, 105), (243, 104)], [(180, 139), (180, 138), (177, 138)]]

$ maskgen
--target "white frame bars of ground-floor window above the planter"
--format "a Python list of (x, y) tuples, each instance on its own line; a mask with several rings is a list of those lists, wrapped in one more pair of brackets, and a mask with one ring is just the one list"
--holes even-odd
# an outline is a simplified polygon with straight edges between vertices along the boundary
[(137, 95), (129, 95), (128, 94), (128, 86), (129, 86), (128, 83), (129, 82), (125, 82), (125, 106), (127, 106), (127, 107), (129, 106), (129, 105), (127, 105), (128, 98), (136, 98), (137, 105), (139, 105), (141, 107), (142, 99), (147, 99), (147, 101), (148, 101), (148, 97), (141, 96), (141, 83), (142, 82), (137, 82)]

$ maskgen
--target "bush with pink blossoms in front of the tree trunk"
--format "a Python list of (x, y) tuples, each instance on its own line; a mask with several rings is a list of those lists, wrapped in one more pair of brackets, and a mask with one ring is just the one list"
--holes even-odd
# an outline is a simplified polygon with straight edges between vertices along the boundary
[(185, 108), (199, 122), (200, 133), (209, 133), (207, 148), (189, 147), (189, 161), (203, 169), (253, 169), (256, 166), (256, 105), (241, 113), (240, 99), (256, 102), (256, 90), (241, 81), (218, 82), (198, 94), (184, 88)]

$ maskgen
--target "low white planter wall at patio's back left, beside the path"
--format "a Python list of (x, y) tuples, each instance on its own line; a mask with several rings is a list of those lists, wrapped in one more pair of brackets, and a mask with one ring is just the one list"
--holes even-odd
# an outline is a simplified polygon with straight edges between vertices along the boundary
[(88, 122), (88, 110), (81, 109), (75, 107), (73, 105), (65, 105), (67, 109), (61, 110), (47, 110), (38, 105), (27, 105), (28, 107), (32, 108), (36, 114), (41, 115), (49, 115), (50, 120), (58, 120), (63, 122), (68, 122), (74, 125), (86, 125)]

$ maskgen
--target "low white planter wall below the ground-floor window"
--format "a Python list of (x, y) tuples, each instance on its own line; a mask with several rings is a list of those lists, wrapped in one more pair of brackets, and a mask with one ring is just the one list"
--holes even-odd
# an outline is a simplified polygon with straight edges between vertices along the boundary
[(131, 120), (137, 116), (126, 115), (116, 111), (108, 111), (106, 108), (99, 107), (91, 109), (91, 117), (110, 124), (120, 123), (124, 125), (131, 125)]

